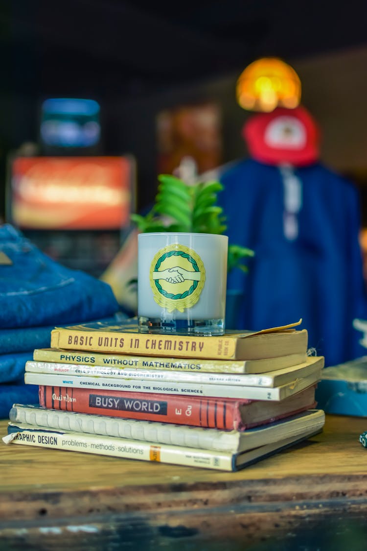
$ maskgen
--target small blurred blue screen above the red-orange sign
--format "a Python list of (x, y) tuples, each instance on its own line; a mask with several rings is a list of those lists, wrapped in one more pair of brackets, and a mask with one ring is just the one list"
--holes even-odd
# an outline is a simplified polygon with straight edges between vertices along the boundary
[(47, 99), (41, 108), (40, 134), (52, 147), (92, 147), (101, 136), (100, 106), (88, 99)]

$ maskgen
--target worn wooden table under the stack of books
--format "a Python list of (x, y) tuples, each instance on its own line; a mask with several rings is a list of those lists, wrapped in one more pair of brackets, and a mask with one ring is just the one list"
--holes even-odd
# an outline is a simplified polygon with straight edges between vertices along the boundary
[(1, 442), (0, 549), (364, 551), (365, 429), (328, 416), (237, 473)]

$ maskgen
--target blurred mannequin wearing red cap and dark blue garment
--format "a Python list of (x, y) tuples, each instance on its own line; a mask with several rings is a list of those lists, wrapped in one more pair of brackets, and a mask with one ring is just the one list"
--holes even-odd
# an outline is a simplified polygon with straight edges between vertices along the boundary
[(250, 159), (220, 174), (229, 241), (255, 251), (236, 326), (262, 329), (303, 318), (309, 347), (335, 365), (365, 354), (354, 318), (366, 319), (359, 196), (319, 162), (319, 129), (302, 106), (253, 115)]

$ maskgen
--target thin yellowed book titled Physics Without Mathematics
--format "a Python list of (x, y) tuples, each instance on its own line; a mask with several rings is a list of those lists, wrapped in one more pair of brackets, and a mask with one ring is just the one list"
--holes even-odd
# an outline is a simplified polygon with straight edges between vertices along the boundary
[(114, 368), (136, 368), (172, 370), (178, 372), (213, 372), (236, 374), (259, 374), (267, 371), (289, 368), (306, 361), (306, 353), (288, 354), (265, 360), (206, 360), (169, 358), (165, 356), (132, 356), (127, 354), (99, 354), (97, 352), (78, 352), (58, 348), (36, 348), (35, 361), (54, 361), (64, 364), (105, 365)]

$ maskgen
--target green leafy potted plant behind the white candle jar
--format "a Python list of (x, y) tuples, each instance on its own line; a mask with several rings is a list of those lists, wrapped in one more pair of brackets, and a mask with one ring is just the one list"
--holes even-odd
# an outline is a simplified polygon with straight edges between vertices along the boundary
[[(193, 233), (224, 235), (226, 218), (217, 204), (217, 194), (223, 185), (217, 181), (189, 185), (168, 174), (158, 176), (154, 206), (146, 215), (132, 214), (140, 233)], [(229, 244), (227, 272), (238, 268), (248, 271), (245, 260), (254, 252), (246, 247)], [(232, 327), (231, 315), (235, 300), (227, 290), (226, 325)]]

